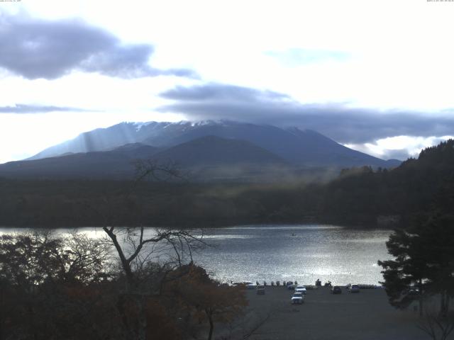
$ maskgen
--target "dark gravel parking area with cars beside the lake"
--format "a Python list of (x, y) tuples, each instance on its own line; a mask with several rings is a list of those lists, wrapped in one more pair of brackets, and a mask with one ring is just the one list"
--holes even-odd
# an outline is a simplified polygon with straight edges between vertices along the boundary
[[(416, 327), (418, 312), (391, 307), (382, 289), (332, 295), (328, 288), (308, 290), (302, 305), (292, 305), (293, 291), (267, 287), (265, 295), (247, 290), (249, 316), (258, 329), (248, 339), (419, 340), (430, 339)], [(261, 320), (259, 322), (258, 320)], [(451, 334), (451, 338), (454, 339)]]

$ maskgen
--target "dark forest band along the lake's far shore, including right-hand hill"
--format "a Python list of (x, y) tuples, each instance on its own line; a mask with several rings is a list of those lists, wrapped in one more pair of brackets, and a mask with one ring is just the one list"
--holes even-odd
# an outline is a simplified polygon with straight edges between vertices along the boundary
[(216, 227), (320, 222), (395, 227), (452, 206), (454, 141), (395, 169), (343, 169), (336, 179), (282, 183), (0, 179), (0, 225)]

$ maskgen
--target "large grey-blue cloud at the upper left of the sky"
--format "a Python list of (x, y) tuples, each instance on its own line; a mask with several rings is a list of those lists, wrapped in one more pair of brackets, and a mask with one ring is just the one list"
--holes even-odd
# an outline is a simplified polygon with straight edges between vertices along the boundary
[(27, 79), (56, 79), (73, 70), (111, 77), (196, 77), (189, 69), (155, 69), (153, 46), (123, 44), (77, 19), (44, 21), (0, 16), (0, 67)]

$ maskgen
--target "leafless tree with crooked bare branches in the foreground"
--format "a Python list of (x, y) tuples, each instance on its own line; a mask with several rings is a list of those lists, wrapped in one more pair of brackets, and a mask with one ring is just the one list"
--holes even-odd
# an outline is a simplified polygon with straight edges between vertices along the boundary
[[(146, 180), (170, 181), (182, 179), (182, 175), (173, 164), (160, 165), (152, 161), (138, 161), (135, 163), (135, 180), (126, 193), (126, 200), (131, 199), (134, 191), (140, 183)], [(143, 207), (136, 205), (136, 213), (140, 215)], [(131, 211), (131, 213), (134, 213)], [(122, 311), (126, 310), (124, 305), (133, 302), (137, 315), (137, 327), (133, 331), (130, 328), (130, 337), (144, 340), (146, 336), (147, 317), (145, 305), (147, 297), (160, 292), (160, 283), (166, 273), (175, 266), (182, 266), (185, 260), (192, 262), (192, 252), (195, 248), (204, 244), (203, 233), (194, 232), (192, 229), (175, 228), (150, 228), (145, 229), (144, 225), (131, 227), (116, 227), (109, 225), (110, 218), (106, 218), (106, 225), (102, 228), (111, 239), (116, 249), (122, 271), (126, 278), (125, 294)], [(163, 259), (162, 259), (163, 258)], [(158, 272), (150, 273), (150, 263), (164, 261), (165, 266)], [(146, 270), (145, 270), (146, 269)], [(159, 275), (157, 275), (159, 274)], [(125, 318), (126, 319), (126, 318)]]

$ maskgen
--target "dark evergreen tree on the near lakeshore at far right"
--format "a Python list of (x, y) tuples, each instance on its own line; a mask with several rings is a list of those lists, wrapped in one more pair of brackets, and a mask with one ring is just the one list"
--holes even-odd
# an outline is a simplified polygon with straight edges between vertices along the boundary
[(384, 288), (394, 307), (405, 308), (414, 300), (411, 286), (419, 288), (419, 312), (423, 298), (441, 296), (441, 314), (447, 315), (454, 296), (454, 216), (433, 215), (411, 232), (396, 230), (387, 242), (394, 260), (379, 261)]

